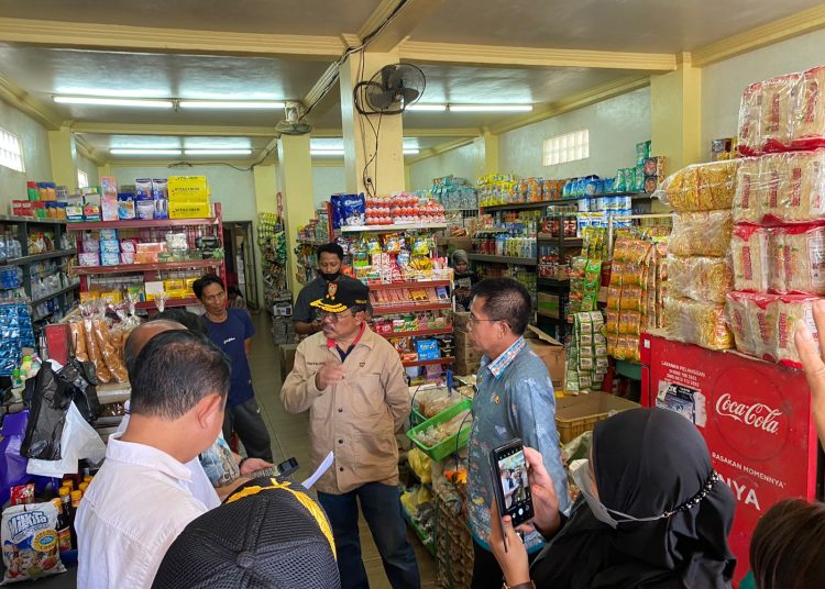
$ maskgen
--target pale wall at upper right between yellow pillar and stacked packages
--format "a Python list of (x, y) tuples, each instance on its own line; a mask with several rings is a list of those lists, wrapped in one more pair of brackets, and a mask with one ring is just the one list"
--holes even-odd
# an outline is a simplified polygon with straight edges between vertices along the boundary
[(825, 64), (825, 31), (816, 31), (732, 57), (702, 70), (702, 148), (737, 134), (739, 99), (755, 82)]

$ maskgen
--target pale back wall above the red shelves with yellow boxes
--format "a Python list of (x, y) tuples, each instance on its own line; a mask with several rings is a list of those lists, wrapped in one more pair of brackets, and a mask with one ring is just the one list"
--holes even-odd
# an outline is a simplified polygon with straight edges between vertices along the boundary
[(229, 166), (195, 166), (167, 168), (165, 166), (118, 166), (112, 163), (112, 175), (119, 185), (134, 184), (135, 178), (168, 178), (169, 176), (206, 176), (212, 190), (212, 202), (220, 202), (224, 221), (255, 221), (255, 181), (251, 171), (240, 171)]

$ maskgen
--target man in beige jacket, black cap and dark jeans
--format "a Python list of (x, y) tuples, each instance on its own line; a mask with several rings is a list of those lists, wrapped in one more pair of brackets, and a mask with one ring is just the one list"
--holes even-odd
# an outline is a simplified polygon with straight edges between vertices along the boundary
[(361, 559), (359, 502), (394, 589), (420, 586), (402, 514), (395, 432), (409, 415), (404, 367), (395, 348), (364, 321), (367, 289), (330, 282), (311, 303), (322, 331), (300, 343), (280, 399), (290, 413), (309, 410), (310, 458), (334, 464), (316, 484), (332, 524), (342, 589), (367, 588)]

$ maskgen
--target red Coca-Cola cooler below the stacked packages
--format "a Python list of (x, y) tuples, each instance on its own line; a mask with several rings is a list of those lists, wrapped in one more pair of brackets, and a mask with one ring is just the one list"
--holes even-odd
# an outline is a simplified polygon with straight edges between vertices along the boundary
[(736, 582), (750, 568), (759, 518), (787, 498), (817, 494), (817, 440), (801, 370), (653, 335), (641, 340), (641, 403), (696, 424), (737, 500)]

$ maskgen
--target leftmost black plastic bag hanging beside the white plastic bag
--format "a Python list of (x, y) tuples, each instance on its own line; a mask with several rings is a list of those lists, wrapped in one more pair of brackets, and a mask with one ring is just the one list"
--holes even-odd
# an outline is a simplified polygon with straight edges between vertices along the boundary
[(61, 459), (61, 437), (74, 387), (57, 378), (51, 363), (44, 363), (34, 379), (29, 424), (20, 455), (42, 460)]

